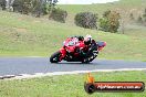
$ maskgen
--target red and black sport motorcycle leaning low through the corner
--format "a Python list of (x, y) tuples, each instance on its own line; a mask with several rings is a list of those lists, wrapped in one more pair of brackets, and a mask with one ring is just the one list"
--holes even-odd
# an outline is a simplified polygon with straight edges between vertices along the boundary
[[(66, 61), (90, 63), (97, 56), (98, 51), (101, 51), (106, 45), (106, 42), (95, 42), (94, 40), (92, 43), (94, 43), (94, 46), (88, 53), (90, 45), (85, 45), (83, 41), (79, 41), (76, 37), (67, 37), (63, 42), (63, 47), (51, 55), (50, 62), (59, 63), (61, 61)], [(85, 55), (81, 55), (79, 52), (80, 50), (82, 50)]]

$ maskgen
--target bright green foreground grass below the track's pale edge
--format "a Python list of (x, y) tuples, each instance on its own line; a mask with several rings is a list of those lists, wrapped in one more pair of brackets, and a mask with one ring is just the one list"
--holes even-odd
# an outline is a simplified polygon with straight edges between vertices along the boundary
[[(92, 73), (97, 82), (144, 82), (146, 71)], [(84, 91), (86, 74), (63, 75), (32, 79), (0, 80), (1, 97), (146, 97), (144, 93), (94, 93)]]

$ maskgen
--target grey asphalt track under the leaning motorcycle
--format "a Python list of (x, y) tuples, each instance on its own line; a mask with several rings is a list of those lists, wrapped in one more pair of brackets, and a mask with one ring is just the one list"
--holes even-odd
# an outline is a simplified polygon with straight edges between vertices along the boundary
[(0, 76), (119, 68), (146, 68), (146, 62), (95, 60), (91, 64), (67, 62), (51, 64), (49, 57), (0, 57)]

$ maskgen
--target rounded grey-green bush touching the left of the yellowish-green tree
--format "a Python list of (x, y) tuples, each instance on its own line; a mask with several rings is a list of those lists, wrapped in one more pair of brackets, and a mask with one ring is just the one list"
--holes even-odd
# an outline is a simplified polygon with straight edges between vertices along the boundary
[(97, 14), (92, 12), (81, 12), (74, 18), (75, 24), (85, 29), (97, 29)]

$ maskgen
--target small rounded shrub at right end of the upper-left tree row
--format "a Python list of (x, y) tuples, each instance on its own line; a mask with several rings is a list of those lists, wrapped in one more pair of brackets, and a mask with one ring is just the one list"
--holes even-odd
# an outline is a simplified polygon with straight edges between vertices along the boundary
[(61, 22), (61, 23), (65, 23), (65, 19), (67, 17), (67, 12), (62, 10), (62, 9), (52, 9), (52, 11), (50, 12), (49, 19), (52, 19), (54, 21)]

